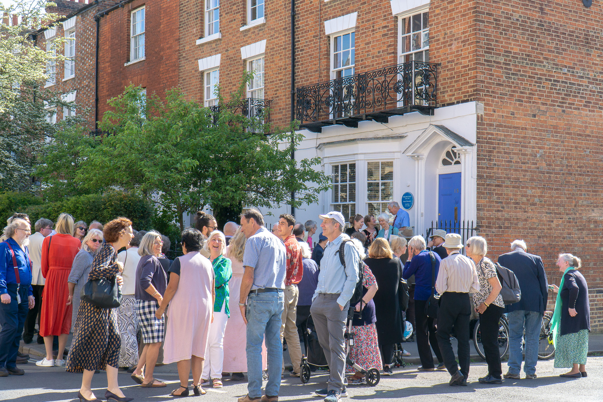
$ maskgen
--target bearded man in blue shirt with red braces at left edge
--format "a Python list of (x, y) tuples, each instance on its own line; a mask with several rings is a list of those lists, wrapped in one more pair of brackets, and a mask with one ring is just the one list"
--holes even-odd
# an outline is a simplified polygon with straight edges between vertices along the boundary
[(28, 309), (36, 303), (27, 249), (30, 234), (27, 221), (13, 219), (4, 230), (7, 240), (0, 243), (0, 377), (25, 374), (16, 359)]

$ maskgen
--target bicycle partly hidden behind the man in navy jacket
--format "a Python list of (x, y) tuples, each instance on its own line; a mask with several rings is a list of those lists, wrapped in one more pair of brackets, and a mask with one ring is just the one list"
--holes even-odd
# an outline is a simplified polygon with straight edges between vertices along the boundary
[[(552, 312), (545, 312), (540, 326), (540, 336), (538, 337), (538, 359), (548, 360), (555, 355), (554, 345), (549, 344), (549, 334), (551, 334)], [(509, 321), (506, 315), (503, 315), (499, 321), (498, 344), (500, 348), (500, 358), (502, 359), (509, 351)], [(473, 328), (473, 345), (478, 351), (479, 356), (485, 360), (484, 348), (481, 342), (481, 333), (479, 331), (479, 321)], [(525, 350), (525, 331), (522, 338), (522, 349)]]

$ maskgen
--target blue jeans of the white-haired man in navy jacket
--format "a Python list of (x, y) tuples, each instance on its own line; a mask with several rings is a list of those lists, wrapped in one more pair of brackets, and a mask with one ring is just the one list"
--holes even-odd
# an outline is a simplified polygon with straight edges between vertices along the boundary
[(538, 343), (540, 342), (540, 328), (542, 314), (535, 311), (515, 310), (507, 314), (509, 319), (509, 372), (519, 374), (522, 371), (522, 338), (523, 329), (526, 332), (525, 364), (523, 371), (526, 374), (536, 373), (538, 363)]

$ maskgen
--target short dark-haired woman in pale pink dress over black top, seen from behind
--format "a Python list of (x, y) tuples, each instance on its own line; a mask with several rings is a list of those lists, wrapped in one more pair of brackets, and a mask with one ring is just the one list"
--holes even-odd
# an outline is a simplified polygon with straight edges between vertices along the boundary
[(199, 251), (203, 246), (201, 232), (186, 228), (182, 232), (182, 252), (169, 268), (169, 283), (159, 309), (160, 318), (168, 306), (168, 324), (163, 343), (163, 363), (178, 362), (180, 388), (174, 397), (189, 394), (188, 381), (192, 366), (192, 385), (195, 395), (203, 395), (201, 388), (203, 360), (207, 349), (209, 325), (213, 321), (213, 268), (212, 263)]

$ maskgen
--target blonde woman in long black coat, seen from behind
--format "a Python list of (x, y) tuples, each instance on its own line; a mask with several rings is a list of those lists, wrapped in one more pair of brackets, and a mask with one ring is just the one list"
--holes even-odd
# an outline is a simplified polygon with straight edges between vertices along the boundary
[(383, 237), (374, 239), (364, 260), (377, 280), (379, 290), (373, 297), (377, 317), (377, 339), (383, 360), (383, 374), (391, 375), (394, 344), (403, 341), (402, 317), (398, 306), (400, 262), (394, 258), (390, 243)]

